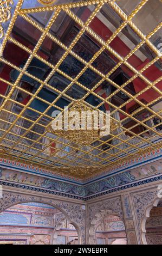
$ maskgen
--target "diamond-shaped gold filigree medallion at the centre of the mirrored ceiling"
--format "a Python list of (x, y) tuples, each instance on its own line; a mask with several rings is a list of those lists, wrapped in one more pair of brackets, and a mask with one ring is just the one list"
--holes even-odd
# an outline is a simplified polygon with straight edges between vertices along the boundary
[[(56, 123), (57, 127), (54, 127)], [(61, 126), (58, 126), (59, 123)], [(69, 109), (65, 108), (63, 114), (57, 115), (48, 131), (75, 143), (89, 145), (98, 138), (109, 135), (110, 130), (117, 127), (118, 125), (109, 119), (109, 115), (78, 100)], [(103, 132), (104, 129), (106, 132)]]

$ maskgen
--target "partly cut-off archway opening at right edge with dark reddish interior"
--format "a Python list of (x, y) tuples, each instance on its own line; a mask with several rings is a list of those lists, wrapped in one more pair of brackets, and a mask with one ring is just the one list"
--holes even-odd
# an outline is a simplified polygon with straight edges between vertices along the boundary
[(153, 206), (146, 220), (146, 242), (148, 245), (162, 245), (162, 200)]

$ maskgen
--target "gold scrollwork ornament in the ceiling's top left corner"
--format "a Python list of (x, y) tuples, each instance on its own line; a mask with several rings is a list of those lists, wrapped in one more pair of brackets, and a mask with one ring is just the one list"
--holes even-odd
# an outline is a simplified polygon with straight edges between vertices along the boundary
[(11, 19), (10, 4), (13, 3), (14, 2), (12, 0), (0, 0), (0, 38), (4, 37), (2, 23)]

